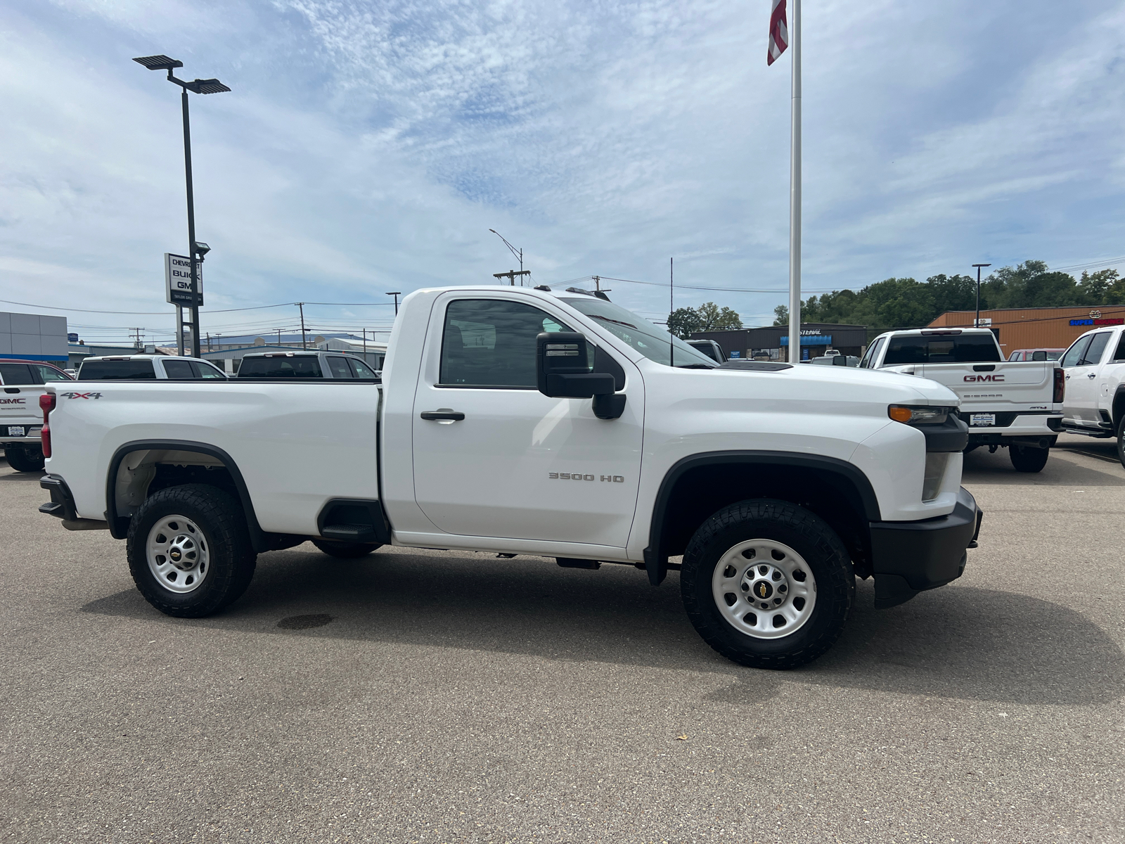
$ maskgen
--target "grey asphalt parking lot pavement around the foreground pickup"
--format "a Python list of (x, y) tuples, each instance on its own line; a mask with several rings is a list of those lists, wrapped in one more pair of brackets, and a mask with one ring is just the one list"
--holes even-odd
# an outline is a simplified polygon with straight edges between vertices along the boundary
[(1125, 469), (1078, 437), (965, 463), (965, 575), (882, 611), (861, 583), (772, 673), (675, 574), (539, 558), (305, 545), (166, 618), (0, 461), (0, 841), (1125, 841)]

